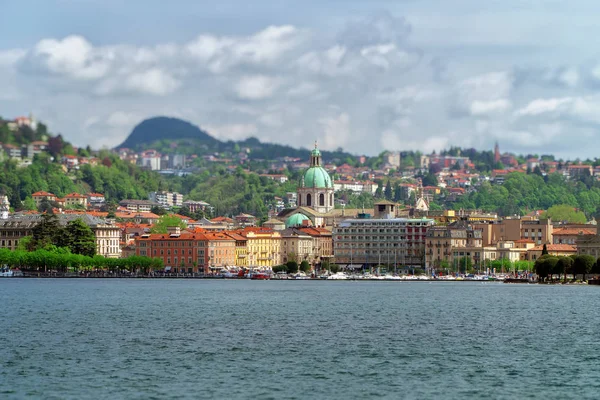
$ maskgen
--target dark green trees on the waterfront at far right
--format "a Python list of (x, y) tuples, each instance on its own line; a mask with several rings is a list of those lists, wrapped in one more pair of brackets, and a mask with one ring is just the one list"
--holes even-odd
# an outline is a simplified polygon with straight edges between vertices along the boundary
[(577, 275), (582, 276), (582, 280), (586, 280), (587, 274), (600, 274), (600, 258), (587, 254), (573, 255), (568, 257), (555, 257), (549, 254), (543, 254), (535, 261), (535, 272), (539, 276), (540, 281), (544, 282), (547, 279), (554, 281), (554, 277), (561, 275), (566, 282), (567, 275), (573, 275), (573, 279)]

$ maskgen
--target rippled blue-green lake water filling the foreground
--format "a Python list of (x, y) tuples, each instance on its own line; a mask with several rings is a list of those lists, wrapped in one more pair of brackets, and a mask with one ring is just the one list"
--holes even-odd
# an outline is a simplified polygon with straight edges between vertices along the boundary
[(0, 279), (0, 398), (599, 398), (600, 287)]

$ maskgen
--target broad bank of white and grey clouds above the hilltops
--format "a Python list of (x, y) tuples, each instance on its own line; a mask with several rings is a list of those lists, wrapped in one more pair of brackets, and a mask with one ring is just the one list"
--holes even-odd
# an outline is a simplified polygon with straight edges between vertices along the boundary
[[(115, 145), (142, 119), (171, 115), (222, 139), (317, 139), (361, 154), (491, 148), (496, 139), (534, 149), (536, 137), (561, 150), (565, 132), (571, 145), (600, 123), (594, 64), (536, 58), (520, 68), (516, 58), (487, 62), (484, 50), (420, 50), (410, 24), (386, 13), (338, 35), (305, 26), (144, 46), (72, 35), (1, 50), (0, 108), (31, 110), (78, 145)], [(498, 60), (494, 51), (484, 55)]]

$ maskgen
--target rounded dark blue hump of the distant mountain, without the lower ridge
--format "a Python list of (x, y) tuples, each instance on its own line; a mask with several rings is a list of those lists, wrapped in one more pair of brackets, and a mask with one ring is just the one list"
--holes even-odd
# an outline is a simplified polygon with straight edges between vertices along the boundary
[(178, 118), (154, 117), (140, 122), (117, 148), (140, 149), (162, 140), (193, 139), (198, 144), (216, 147), (221, 142), (196, 125)]

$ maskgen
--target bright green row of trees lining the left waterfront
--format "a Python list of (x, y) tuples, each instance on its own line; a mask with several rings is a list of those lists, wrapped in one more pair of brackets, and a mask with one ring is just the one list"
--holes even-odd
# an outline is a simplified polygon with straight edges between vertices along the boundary
[(128, 258), (106, 258), (73, 254), (64, 247), (49, 246), (35, 251), (0, 249), (0, 265), (32, 271), (77, 272), (94, 269), (109, 271), (127, 270), (132, 273), (164, 269), (159, 258), (131, 256)]

